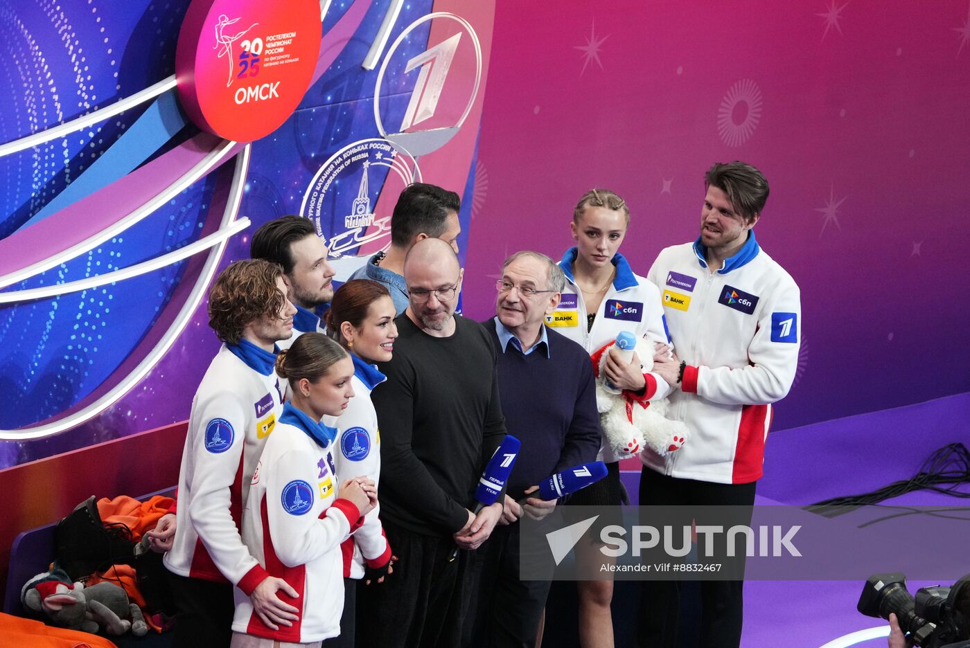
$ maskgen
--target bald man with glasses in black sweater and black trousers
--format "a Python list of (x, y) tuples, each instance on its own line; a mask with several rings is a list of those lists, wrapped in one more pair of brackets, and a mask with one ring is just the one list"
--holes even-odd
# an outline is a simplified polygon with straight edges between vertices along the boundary
[[(477, 515), (474, 491), (505, 437), (496, 351), (481, 324), (455, 315), (462, 285), (445, 241), (426, 238), (404, 260), (407, 309), (394, 358), (374, 388), (380, 426), (381, 521), (398, 563), (363, 598), (365, 646), (461, 644), (468, 551), (488, 539), (501, 503)], [(457, 560), (450, 560), (458, 545)]]

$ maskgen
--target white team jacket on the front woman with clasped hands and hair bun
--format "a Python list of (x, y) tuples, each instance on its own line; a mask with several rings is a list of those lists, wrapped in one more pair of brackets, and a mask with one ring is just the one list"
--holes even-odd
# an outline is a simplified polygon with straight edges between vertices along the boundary
[[(307, 643), (340, 633), (343, 559), (340, 542), (356, 528), (360, 512), (336, 497), (339, 478), (331, 453), (337, 430), (321, 425), (287, 403), (252, 475), (242, 516), (242, 540), (271, 575), (300, 595), (281, 601), (297, 607), (293, 626), (278, 631), (253, 613), (236, 590), (233, 630), (277, 641)], [(326, 443), (324, 447), (323, 443)]]

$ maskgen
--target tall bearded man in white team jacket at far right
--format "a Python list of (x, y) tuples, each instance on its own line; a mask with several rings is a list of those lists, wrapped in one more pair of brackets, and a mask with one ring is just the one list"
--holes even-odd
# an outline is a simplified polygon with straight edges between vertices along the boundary
[[(674, 389), (671, 411), (692, 437), (666, 457), (643, 450), (640, 504), (748, 511), (729, 520), (696, 519), (727, 528), (751, 519), (772, 404), (788, 394), (798, 363), (801, 305), (792, 276), (755, 239), (768, 199), (760, 170), (716, 164), (704, 185), (700, 235), (663, 250), (647, 275), (663, 291), (666, 324), (680, 355), (656, 362), (654, 372)], [(700, 583), (699, 645), (740, 644), (743, 585)], [(677, 630), (678, 584), (644, 582), (640, 645), (676, 646)]]

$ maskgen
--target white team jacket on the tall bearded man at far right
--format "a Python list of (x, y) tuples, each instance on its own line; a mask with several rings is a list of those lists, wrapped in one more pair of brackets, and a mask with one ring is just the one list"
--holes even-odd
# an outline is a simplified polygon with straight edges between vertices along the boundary
[(670, 404), (693, 436), (665, 459), (644, 449), (640, 460), (677, 478), (759, 479), (771, 404), (789, 392), (798, 364), (798, 286), (754, 231), (716, 272), (698, 239), (663, 250), (647, 276), (663, 290), (670, 337), (688, 364)]

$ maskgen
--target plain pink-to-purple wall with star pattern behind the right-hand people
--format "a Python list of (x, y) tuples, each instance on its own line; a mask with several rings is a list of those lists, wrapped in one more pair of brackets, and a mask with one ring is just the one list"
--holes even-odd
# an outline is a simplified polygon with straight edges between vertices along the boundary
[(802, 291), (776, 429), (970, 389), (967, 0), (498, 3), (491, 64), (467, 313), (506, 253), (562, 255), (594, 186), (629, 202), (646, 274), (695, 238), (704, 170), (741, 159)]

